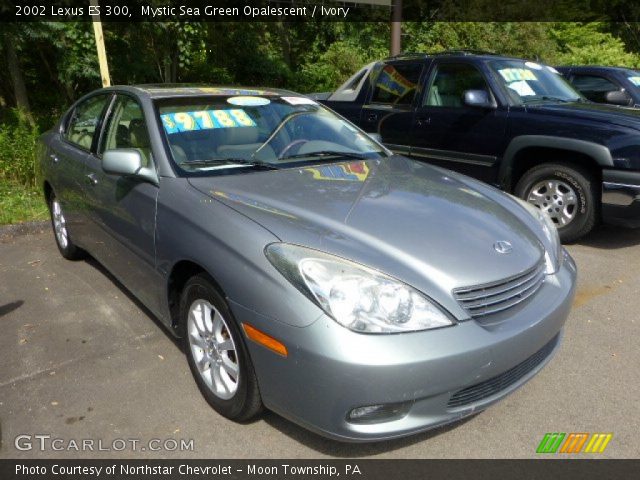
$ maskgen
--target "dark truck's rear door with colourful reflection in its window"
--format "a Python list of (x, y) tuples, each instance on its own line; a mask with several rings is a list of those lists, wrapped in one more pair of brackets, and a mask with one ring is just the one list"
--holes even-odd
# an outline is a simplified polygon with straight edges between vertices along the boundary
[(374, 71), (369, 102), (363, 106), (360, 125), (380, 135), (396, 153), (408, 154), (414, 99), (420, 91), (424, 60), (389, 62)]

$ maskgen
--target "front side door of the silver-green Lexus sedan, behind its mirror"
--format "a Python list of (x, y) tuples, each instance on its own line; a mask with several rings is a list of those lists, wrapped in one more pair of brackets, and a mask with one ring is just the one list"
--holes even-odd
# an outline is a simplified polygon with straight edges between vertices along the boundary
[(106, 173), (102, 154), (136, 149), (143, 166), (154, 166), (147, 122), (133, 96), (118, 94), (107, 114), (96, 154), (87, 159), (86, 196), (100, 231), (96, 257), (152, 310), (159, 304), (160, 277), (155, 269), (155, 218), (159, 188), (135, 176)]

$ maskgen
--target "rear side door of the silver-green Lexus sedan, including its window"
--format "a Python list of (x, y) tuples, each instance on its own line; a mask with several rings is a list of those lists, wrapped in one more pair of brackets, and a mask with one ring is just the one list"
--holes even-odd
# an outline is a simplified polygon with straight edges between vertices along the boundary
[(84, 196), (85, 164), (97, 141), (109, 99), (109, 94), (98, 94), (78, 102), (49, 144), (51, 184), (73, 232), (73, 241), (84, 247), (91, 243), (91, 221)]

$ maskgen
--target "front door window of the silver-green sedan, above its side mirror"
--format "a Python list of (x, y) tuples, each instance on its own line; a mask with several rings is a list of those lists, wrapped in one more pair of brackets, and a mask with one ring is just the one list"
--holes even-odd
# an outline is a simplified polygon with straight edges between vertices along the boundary
[(142, 107), (132, 97), (119, 95), (112, 109), (101, 151), (135, 148), (142, 155), (142, 165), (151, 165), (151, 142)]

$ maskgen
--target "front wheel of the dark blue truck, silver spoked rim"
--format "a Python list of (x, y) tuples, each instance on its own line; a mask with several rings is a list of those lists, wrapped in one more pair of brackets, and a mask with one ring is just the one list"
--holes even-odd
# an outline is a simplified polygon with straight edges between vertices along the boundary
[(547, 213), (560, 240), (573, 242), (595, 226), (600, 209), (593, 175), (581, 167), (545, 163), (528, 170), (515, 194)]

